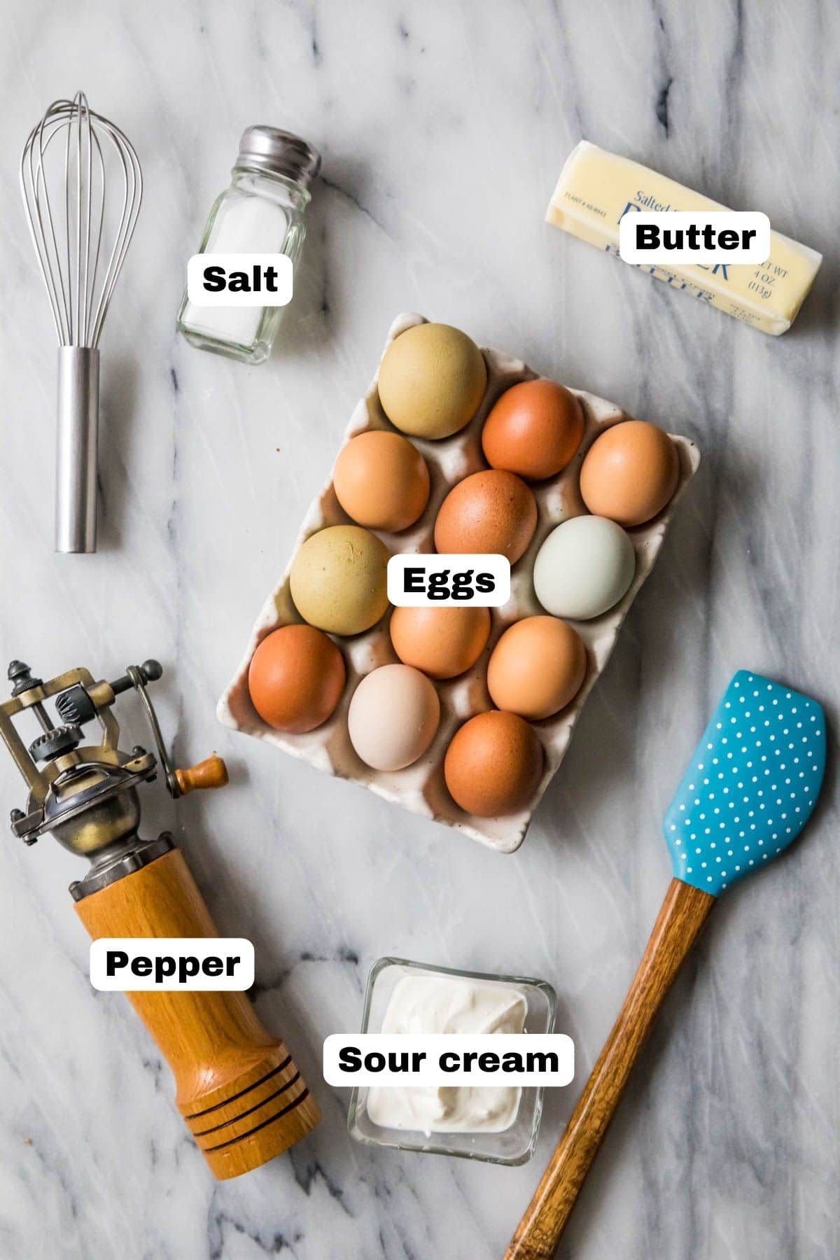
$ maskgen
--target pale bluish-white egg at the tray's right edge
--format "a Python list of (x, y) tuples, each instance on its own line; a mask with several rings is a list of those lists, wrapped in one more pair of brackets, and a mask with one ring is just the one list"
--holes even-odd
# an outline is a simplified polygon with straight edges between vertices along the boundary
[(548, 536), (534, 562), (534, 591), (555, 617), (588, 621), (626, 595), (636, 573), (627, 534), (604, 517), (573, 517)]

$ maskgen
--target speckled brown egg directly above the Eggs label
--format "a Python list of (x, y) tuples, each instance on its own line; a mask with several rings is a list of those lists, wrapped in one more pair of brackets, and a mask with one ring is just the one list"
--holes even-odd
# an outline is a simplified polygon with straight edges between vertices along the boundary
[(515, 564), (535, 528), (536, 501), (525, 483), (491, 469), (452, 486), (434, 522), (434, 547), (438, 552), (494, 552)]

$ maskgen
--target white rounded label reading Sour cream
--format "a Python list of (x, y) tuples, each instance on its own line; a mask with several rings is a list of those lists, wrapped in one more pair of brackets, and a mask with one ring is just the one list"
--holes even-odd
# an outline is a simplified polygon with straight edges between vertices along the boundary
[[(426, 1052), (426, 1058), (416, 1072), (374, 1072), (360, 1067), (355, 1072), (343, 1071), (339, 1066), (339, 1055), (346, 1046), (354, 1046), (360, 1051), (361, 1057), (372, 1052), (380, 1055)], [(474, 1051), (479, 1055), (491, 1052), (500, 1058), (502, 1055), (515, 1052), (525, 1056), (529, 1053), (554, 1053), (559, 1060), (557, 1072), (531, 1071), (531, 1072), (482, 1072), (477, 1062), (472, 1063), (470, 1071), (458, 1068), (455, 1072), (443, 1071), (440, 1066), (440, 1056), (446, 1052), (458, 1053), (461, 1057)], [(382, 1085), (383, 1087), (402, 1085), (568, 1085), (574, 1076), (574, 1042), (565, 1033), (332, 1033), (324, 1042), (324, 1080), (327, 1085)]]

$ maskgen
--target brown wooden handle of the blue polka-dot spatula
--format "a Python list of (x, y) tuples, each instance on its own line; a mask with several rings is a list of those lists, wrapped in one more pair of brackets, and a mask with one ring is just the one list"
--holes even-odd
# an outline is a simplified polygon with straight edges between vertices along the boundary
[(714, 902), (708, 892), (671, 881), (621, 1013), (505, 1260), (550, 1260), (557, 1251), (654, 1017)]

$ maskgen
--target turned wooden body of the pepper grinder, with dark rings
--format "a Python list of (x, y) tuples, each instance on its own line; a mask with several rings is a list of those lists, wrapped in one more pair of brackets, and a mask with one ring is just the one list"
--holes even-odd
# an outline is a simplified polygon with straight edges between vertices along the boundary
[[(76, 910), (93, 940), (219, 935), (179, 849), (83, 897)], [(321, 1119), (292, 1056), (244, 993), (126, 997), (171, 1067), (178, 1109), (219, 1179), (273, 1159)]]

